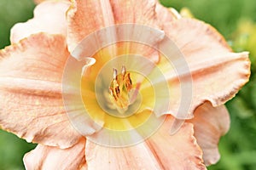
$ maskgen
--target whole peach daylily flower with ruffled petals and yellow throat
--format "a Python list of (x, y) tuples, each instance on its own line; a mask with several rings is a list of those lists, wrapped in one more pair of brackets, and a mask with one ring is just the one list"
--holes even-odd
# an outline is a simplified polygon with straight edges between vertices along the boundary
[[(166, 37), (175, 42), (189, 72), (179, 74), (179, 68), (168, 64), (164, 54), (139, 42), (116, 42), (92, 56), (84, 55), (96, 45), (120, 36), (120, 32), (104, 28), (127, 23), (158, 30), (156, 34), (152, 32), (152, 37), (143, 37), (143, 31), (137, 36), (155, 47), (166, 45), (162, 43)], [(93, 34), (101, 29), (107, 33)], [(84, 46), (84, 38), (91, 35), (96, 39), (91, 41), (97, 43)], [(212, 26), (184, 19), (174, 9), (164, 8), (154, 0), (39, 3), (32, 20), (12, 28), (11, 45), (1, 50), (0, 56), (0, 126), (28, 142), (38, 143), (35, 150), (24, 156), (26, 169), (205, 169), (218, 161), (218, 139), (230, 126), (224, 103), (236, 95), (250, 75), (247, 52), (233, 53)], [(84, 107), (80, 108), (79, 97), (72, 94), (78, 90), (77, 84), (68, 82), (77, 81), (73, 75), (79, 65), (71, 65), (67, 70), (70, 61), (81, 56), (85, 65), (79, 70), (79, 92), (90, 116), (84, 120)], [(119, 59), (118, 64), (108, 67), (115, 59)], [(154, 66), (148, 69), (141, 61)], [(132, 65), (148, 71), (148, 75), (132, 71)], [(150, 82), (158, 78), (154, 76), (157, 69), (165, 77), (163, 84), (167, 88), (155, 88), (157, 85)], [(192, 94), (188, 94), (189, 110), (179, 112), (184, 95), (181, 82), (190, 81), (193, 83)], [(101, 95), (97, 89), (102, 90)], [(102, 129), (127, 131), (156, 114), (156, 98), (162, 99), (159, 94), (170, 98), (167, 110), (157, 110), (156, 116), (164, 117), (164, 122), (155, 133), (127, 147), (102, 145), (102, 138), (106, 137)], [(102, 108), (98, 96), (108, 111), (115, 111), (117, 116)], [(132, 112), (135, 114), (120, 121), (124, 120), (120, 116), (137, 103), (138, 108)], [(127, 140), (131, 137), (132, 134)]]

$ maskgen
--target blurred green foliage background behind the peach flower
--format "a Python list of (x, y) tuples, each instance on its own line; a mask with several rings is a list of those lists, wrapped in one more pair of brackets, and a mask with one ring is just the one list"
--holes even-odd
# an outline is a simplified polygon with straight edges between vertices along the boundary
[[(195, 18), (211, 24), (236, 52), (247, 50), (252, 77), (235, 99), (226, 105), (231, 127), (219, 144), (221, 159), (210, 170), (256, 170), (256, 1), (255, 0), (161, 0), (167, 7), (189, 8)], [(32, 18), (32, 0), (0, 0), (0, 48), (9, 45), (9, 30), (17, 22)], [(0, 170), (24, 169), (23, 155), (35, 144), (27, 144), (0, 130)]]

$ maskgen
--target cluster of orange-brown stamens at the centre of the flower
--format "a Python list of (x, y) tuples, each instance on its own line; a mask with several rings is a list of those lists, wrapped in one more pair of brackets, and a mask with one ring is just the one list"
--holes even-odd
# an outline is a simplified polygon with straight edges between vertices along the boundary
[(130, 105), (130, 96), (132, 82), (130, 72), (126, 71), (125, 66), (122, 66), (122, 71), (113, 68), (113, 80), (109, 86), (109, 99), (119, 112), (125, 112)]

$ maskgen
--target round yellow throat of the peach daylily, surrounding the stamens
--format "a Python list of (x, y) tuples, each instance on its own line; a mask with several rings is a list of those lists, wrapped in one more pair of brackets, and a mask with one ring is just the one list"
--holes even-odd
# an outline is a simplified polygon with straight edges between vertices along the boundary
[[(150, 74), (154, 65), (133, 54), (111, 59), (99, 52), (94, 59), (94, 65), (84, 69), (80, 85), (84, 109), (90, 119), (107, 131), (119, 133), (143, 130), (145, 122), (158, 126), (153, 114), (156, 94), (151, 80), (154, 72)], [(143, 133), (151, 130), (147, 128)]]

